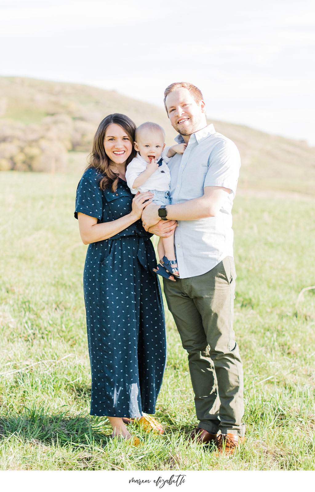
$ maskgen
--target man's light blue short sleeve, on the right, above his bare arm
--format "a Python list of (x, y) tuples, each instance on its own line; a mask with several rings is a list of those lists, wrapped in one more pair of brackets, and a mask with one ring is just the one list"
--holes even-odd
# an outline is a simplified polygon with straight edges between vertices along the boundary
[(232, 140), (221, 140), (211, 151), (204, 186), (221, 186), (234, 193), (239, 176), (241, 158)]

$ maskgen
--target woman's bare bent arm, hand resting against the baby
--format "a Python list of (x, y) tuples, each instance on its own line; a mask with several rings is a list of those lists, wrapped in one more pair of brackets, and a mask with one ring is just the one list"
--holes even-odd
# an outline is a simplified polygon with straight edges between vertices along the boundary
[[(149, 191), (137, 193), (132, 200), (132, 210), (130, 214), (124, 215), (110, 222), (97, 224), (96, 217), (78, 213), (79, 230), (83, 244), (97, 243), (109, 239), (115, 234), (123, 231), (141, 217), (143, 209), (152, 203), (153, 194)], [(144, 203), (148, 200), (146, 203)]]

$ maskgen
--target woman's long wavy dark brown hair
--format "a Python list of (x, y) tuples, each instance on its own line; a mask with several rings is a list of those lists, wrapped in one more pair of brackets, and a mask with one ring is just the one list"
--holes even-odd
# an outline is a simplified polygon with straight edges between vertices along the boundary
[(118, 174), (113, 173), (113, 171), (110, 169), (109, 159), (104, 149), (105, 133), (107, 127), (112, 123), (121, 126), (126, 131), (126, 134), (130, 138), (130, 142), (132, 143), (132, 151), (127, 158), (127, 165), (133, 159), (133, 157), (136, 156), (137, 153), (133, 147), (136, 125), (126, 115), (122, 115), (121, 113), (113, 113), (112, 115), (106, 116), (106, 118), (104, 118), (104, 120), (102, 120), (98, 125), (93, 139), (92, 152), (88, 157), (87, 169), (93, 167), (102, 174), (102, 177), (99, 181), (100, 189), (103, 190), (111, 188), (111, 190), (115, 193), (118, 185), (119, 176)]

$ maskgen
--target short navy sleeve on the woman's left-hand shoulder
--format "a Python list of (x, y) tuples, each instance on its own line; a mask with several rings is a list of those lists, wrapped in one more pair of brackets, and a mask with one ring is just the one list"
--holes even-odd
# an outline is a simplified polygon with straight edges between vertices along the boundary
[(102, 192), (98, 185), (99, 178), (99, 173), (93, 168), (87, 169), (82, 176), (75, 198), (75, 218), (78, 218), (78, 212), (98, 220), (102, 218)]

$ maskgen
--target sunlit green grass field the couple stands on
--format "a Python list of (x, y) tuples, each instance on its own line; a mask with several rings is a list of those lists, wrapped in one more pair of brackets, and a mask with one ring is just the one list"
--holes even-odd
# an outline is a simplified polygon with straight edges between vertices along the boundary
[(187, 355), (167, 316), (158, 397), (163, 436), (131, 448), (89, 416), (83, 301), (86, 246), (73, 218), (79, 174), (1, 173), (1, 470), (314, 470), (314, 201), (234, 203), (235, 331), (244, 361), (247, 440), (231, 458), (188, 446), (197, 423)]

